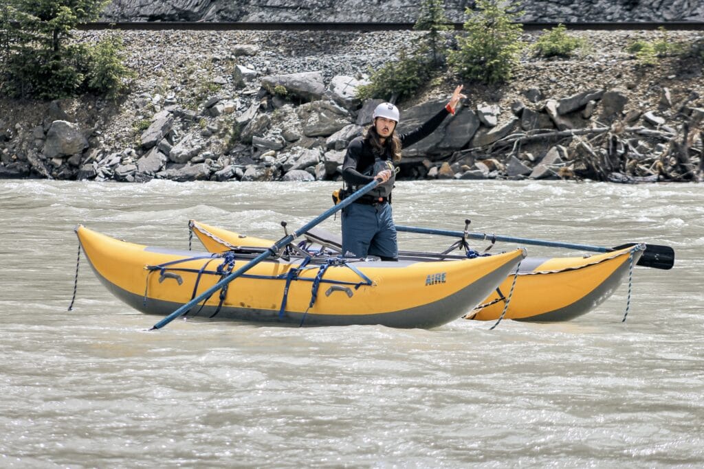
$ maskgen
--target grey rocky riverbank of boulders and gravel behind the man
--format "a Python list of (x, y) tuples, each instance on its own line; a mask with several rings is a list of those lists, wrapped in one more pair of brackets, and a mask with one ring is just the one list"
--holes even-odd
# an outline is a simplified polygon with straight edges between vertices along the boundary
[[(113, 103), (0, 100), (0, 177), (98, 181), (338, 179), (346, 143), (375, 102), (354, 90), (418, 32), (77, 32), (121, 34), (136, 76)], [(525, 34), (534, 41), (538, 33)], [(502, 86), (467, 84), (459, 112), (406, 148), (401, 178), (700, 177), (700, 60), (639, 65), (625, 52), (658, 32), (572, 34), (577, 58), (524, 54)], [(670, 33), (690, 44), (698, 32)], [(400, 131), (439, 109), (446, 76), (399, 103)]]

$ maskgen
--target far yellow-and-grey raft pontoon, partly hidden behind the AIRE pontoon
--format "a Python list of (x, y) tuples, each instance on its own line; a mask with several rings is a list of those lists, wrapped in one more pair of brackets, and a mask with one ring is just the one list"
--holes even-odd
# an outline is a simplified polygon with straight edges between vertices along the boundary
[[(272, 244), (271, 240), (244, 236), (194, 220), (190, 221), (189, 228), (210, 252)], [(311, 230), (306, 238), (332, 252), (340, 250), (339, 237), (323, 230)], [(567, 321), (582, 316), (614, 293), (642, 253), (642, 250), (629, 247), (588, 257), (527, 257), (520, 264), (513, 295), (504, 317), (547, 322)], [(401, 252), (401, 259), (405, 257)], [(514, 277), (515, 271), (511, 271), (501, 285), (487, 295), (466, 318), (480, 321), (498, 319), (505, 308)]]

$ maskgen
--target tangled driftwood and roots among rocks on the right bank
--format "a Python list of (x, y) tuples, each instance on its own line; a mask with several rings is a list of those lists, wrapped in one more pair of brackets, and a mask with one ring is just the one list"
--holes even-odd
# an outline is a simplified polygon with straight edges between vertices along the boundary
[[(612, 112), (608, 110), (610, 103), (599, 101), (604, 95), (596, 96), (597, 101), (573, 110), (573, 116), (580, 115), (572, 120), (570, 113), (555, 112), (557, 102), (548, 100), (541, 113), (551, 119), (542, 122), (557, 128), (531, 129), (522, 125), (488, 146), (455, 153), (450, 164), (466, 161), (467, 157), (484, 164), (491, 162), (494, 167), (503, 161), (504, 165), (498, 164), (499, 174), (516, 176), (507, 174), (508, 161), (517, 158), (531, 167), (534, 154), (545, 153), (529, 174), (532, 179), (559, 177), (622, 183), (703, 180), (704, 109), (689, 105), (699, 96), (692, 94), (673, 105), (669, 92), (663, 89), (660, 110), (647, 112)], [(599, 106), (601, 115), (597, 115)], [(516, 103), (514, 112), (524, 121), (522, 114), (531, 111)], [(661, 116), (667, 116), (667, 121)], [(569, 128), (575, 121), (588, 127)], [(550, 149), (545, 152), (545, 148)]]

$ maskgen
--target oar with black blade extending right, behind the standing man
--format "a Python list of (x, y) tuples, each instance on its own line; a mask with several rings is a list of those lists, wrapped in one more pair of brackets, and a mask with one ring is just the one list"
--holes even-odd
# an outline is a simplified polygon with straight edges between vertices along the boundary
[[(468, 224), (468, 223), (467, 223)], [(590, 246), (586, 244), (572, 244), (572, 243), (560, 243), (559, 241), (546, 241), (539, 239), (530, 238), (514, 238), (513, 236), (501, 236), (486, 233), (470, 233), (468, 231), (450, 231), (450, 230), (439, 230), (432, 228), (416, 228), (415, 226), (400, 226), (396, 225), (396, 231), (405, 231), (406, 233), (420, 233), (420, 234), (434, 234), (439, 236), (451, 236), (453, 238), (467, 237), (479, 240), (496, 240), (503, 241), (504, 243), (517, 243), (517, 244), (527, 244), (534, 246), (547, 246), (548, 248), (567, 248), (582, 251), (591, 252), (612, 252), (615, 250), (620, 250), (623, 248), (629, 248), (636, 243), (629, 243), (615, 248), (601, 248), (601, 246)], [(670, 246), (663, 246), (658, 244), (646, 244), (646, 250), (643, 251), (641, 259), (639, 259), (639, 266), (653, 267), (653, 269), (672, 269), (674, 265), (674, 250)]]

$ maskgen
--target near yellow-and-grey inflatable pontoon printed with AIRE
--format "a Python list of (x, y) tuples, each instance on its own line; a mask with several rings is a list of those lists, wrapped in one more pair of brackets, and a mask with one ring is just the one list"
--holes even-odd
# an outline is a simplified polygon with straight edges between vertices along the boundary
[[(75, 231), (96, 276), (113, 295), (134, 309), (164, 316), (263, 252), (180, 251), (127, 243), (84, 226)], [(187, 316), (294, 326), (434, 328), (472, 311), (525, 255), (516, 249), (476, 259), (380, 262), (280, 252), (192, 307)]]

